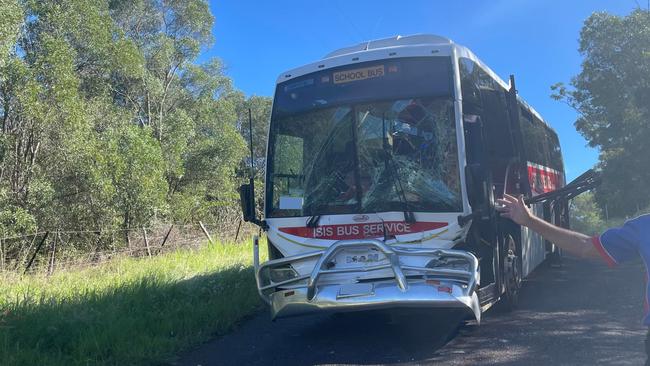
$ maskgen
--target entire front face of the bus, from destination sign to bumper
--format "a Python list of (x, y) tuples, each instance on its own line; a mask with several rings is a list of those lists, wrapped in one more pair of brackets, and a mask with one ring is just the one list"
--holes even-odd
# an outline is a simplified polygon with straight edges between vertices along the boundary
[(409, 304), (480, 318), (478, 260), (451, 249), (467, 230), (453, 70), (451, 57), (378, 59), (277, 85), (271, 260), (257, 271), (273, 316)]

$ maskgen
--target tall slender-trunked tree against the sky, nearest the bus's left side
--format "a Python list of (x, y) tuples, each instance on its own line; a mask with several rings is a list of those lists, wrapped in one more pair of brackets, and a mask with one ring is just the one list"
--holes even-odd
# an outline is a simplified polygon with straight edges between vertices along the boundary
[(207, 3), (113, 0), (110, 9), (144, 59), (139, 73), (117, 78), (115, 95), (161, 146), (172, 217), (215, 215), (213, 208), (233, 204), (234, 167), (245, 146), (235, 130), (239, 93), (221, 62), (195, 63), (212, 42)]

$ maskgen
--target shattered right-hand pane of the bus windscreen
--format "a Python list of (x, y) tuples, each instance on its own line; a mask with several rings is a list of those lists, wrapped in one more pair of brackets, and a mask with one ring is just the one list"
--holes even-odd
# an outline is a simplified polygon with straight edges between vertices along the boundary
[(357, 107), (357, 116), (363, 212), (402, 210), (404, 199), (410, 210), (460, 210), (450, 100), (364, 104)]

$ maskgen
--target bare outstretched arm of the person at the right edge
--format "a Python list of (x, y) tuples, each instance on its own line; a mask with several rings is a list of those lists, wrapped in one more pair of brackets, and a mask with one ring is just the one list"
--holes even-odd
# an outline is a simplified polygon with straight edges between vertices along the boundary
[(506, 194), (503, 199), (497, 200), (497, 203), (497, 210), (501, 212), (501, 216), (509, 218), (519, 225), (529, 227), (544, 239), (567, 252), (582, 258), (597, 259), (601, 257), (601, 254), (592, 243), (593, 238), (555, 226), (538, 218), (530, 212), (524, 203), (523, 196), (517, 198)]

